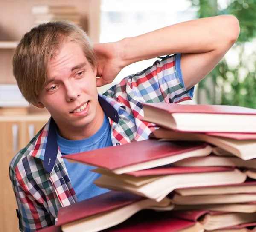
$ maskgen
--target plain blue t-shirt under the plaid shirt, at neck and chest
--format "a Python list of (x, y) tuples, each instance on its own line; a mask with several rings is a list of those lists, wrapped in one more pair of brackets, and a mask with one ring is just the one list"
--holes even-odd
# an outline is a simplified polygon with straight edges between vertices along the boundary
[[(61, 154), (68, 155), (113, 146), (110, 136), (111, 126), (108, 117), (105, 115), (101, 128), (91, 137), (83, 140), (67, 140), (57, 133), (57, 143)], [(95, 167), (81, 163), (70, 163), (66, 159), (64, 159), (64, 163), (79, 201), (109, 191), (108, 189), (102, 189), (93, 184), (93, 181), (101, 176), (101, 174), (90, 171), (91, 169), (95, 169)]]

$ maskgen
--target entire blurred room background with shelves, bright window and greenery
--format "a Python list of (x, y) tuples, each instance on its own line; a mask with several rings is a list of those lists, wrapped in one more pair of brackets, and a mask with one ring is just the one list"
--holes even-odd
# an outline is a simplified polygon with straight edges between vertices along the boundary
[[(221, 14), (239, 19), (239, 39), (196, 86), (194, 99), (186, 104), (256, 108), (256, 0), (0, 0), (0, 231), (19, 231), (9, 163), (49, 120), (46, 110), (23, 99), (12, 76), (13, 52), (24, 33), (39, 23), (71, 20), (93, 43), (103, 43)], [(147, 68), (154, 60), (125, 67), (99, 92)]]

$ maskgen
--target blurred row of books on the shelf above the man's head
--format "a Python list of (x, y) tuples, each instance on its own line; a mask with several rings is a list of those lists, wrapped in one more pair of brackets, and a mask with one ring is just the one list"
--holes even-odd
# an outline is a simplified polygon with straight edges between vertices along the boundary
[(81, 17), (76, 6), (32, 6), (33, 25), (50, 21), (71, 21), (78, 26), (81, 24)]

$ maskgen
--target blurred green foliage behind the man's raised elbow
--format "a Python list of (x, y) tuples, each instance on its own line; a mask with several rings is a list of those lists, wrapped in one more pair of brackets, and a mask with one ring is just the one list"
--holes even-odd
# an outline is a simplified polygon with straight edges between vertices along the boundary
[[(256, 53), (246, 57), (244, 45), (256, 37), (256, 0), (233, 0), (226, 9), (219, 9), (217, 0), (190, 0), (199, 6), (198, 17), (210, 17), (221, 14), (232, 14), (240, 23), (240, 34), (234, 47), (239, 51), (239, 62), (230, 67), (224, 58), (207, 78), (212, 78), (216, 95), (210, 94), (207, 79), (199, 83), (198, 88), (204, 89), (212, 104), (238, 105), (256, 108)], [(249, 67), (248, 61), (251, 66)], [(216, 100), (217, 99), (217, 100)], [(200, 100), (200, 99), (199, 99)], [(200, 103), (200, 101), (199, 101)]]

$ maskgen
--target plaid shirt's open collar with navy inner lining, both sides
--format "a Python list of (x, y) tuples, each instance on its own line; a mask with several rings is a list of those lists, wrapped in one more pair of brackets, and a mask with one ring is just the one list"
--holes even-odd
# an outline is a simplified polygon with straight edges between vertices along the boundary
[[(105, 114), (115, 123), (118, 123), (119, 108), (122, 107), (125, 109), (125, 106), (116, 100), (113, 100), (112, 98), (106, 97), (102, 94), (98, 94), (98, 100)], [(48, 173), (52, 172), (58, 155), (56, 129), (57, 125), (51, 117), (47, 124), (44, 126), (41, 134), (38, 136), (34, 148), (29, 153), (29, 155), (32, 155), (35, 158), (40, 158), (44, 161), (44, 169)]]

